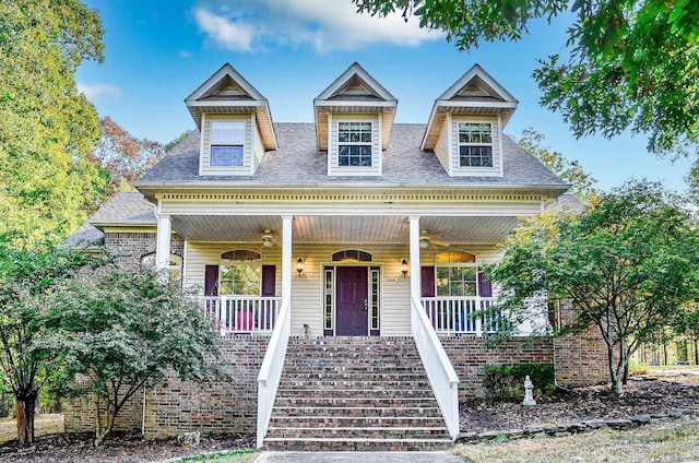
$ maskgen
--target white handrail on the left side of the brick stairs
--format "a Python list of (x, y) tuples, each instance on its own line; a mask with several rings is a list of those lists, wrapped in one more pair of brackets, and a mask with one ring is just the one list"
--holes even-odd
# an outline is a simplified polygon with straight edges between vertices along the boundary
[(291, 301), (288, 297), (282, 300), (282, 308), (270, 344), (260, 367), (258, 376), (258, 439), (257, 448), (261, 449), (270, 427), (274, 397), (282, 379), (284, 358), (286, 357), (286, 346), (292, 332)]

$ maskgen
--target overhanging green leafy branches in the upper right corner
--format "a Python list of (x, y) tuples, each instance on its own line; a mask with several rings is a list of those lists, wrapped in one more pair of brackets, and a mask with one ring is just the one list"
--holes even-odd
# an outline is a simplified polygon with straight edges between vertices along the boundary
[[(447, 33), (461, 50), (517, 40), (536, 19), (568, 11), (567, 56), (540, 61), (541, 103), (576, 136), (649, 135), (656, 153), (699, 142), (699, 2), (695, 0), (354, 0), (359, 11), (401, 11)], [(562, 44), (561, 44), (562, 45)]]

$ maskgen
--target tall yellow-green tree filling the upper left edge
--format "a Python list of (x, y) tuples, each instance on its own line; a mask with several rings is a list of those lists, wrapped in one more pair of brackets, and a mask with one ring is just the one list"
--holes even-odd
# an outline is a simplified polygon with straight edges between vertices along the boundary
[(74, 79), (102, 61), (102, 35), (79, 0), (0, 2), (0, 237), (15, 247), (60, 241), (106, 193), (87, 159), (97, 112)]

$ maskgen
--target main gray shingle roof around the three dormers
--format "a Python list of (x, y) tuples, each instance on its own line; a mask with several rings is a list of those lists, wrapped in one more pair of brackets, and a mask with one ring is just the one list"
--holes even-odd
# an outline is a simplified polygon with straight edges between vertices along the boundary
[(351, 183), (406, 187), (457, 187), (478, 185), (556, 186), (566, 183), (508, 136), (502, 136), (502, 177), (449, 177), (434, 153), (419, 149), (425, 124), (396, 123), (390, 146), (383, 152), (380, 177), (328, 176), (328, 157), (318, 151), (312, 123), (276, 123), (279, 150), (264, 154), (254, 176), (200, 176), (199, 131), (193, 131), (173, 152), (145, 174), (139, 186), (230, 181), (232, 186), (312, 186)]

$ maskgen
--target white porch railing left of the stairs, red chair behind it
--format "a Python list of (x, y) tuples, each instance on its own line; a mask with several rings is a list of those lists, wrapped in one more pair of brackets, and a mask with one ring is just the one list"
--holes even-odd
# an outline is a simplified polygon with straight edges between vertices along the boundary
[(271, 333), (282, 298), (262, 296), (205, 296), (203, 310), (222, 335)]

